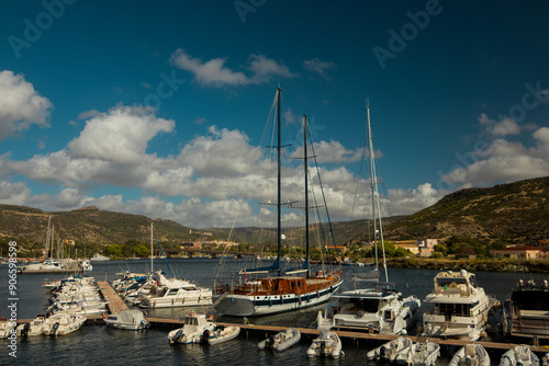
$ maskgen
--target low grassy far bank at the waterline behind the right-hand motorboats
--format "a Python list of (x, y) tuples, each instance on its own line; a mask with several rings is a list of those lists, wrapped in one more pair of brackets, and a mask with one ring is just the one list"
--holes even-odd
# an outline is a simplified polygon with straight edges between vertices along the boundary
[(386, 265), (393, 268), (486, 271), (486, 272), (526, 272), (549, 273), (549, 261), (522, 260), (449, 260), (430, 258), (388, 259)]

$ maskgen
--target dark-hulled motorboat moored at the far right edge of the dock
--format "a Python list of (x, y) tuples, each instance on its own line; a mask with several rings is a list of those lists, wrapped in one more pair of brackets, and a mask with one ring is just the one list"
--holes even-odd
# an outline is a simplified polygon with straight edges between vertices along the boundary
[(503, 333), (525, 339), (549, 339), (549, 283), (517, 281), (502, 308)]

